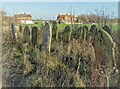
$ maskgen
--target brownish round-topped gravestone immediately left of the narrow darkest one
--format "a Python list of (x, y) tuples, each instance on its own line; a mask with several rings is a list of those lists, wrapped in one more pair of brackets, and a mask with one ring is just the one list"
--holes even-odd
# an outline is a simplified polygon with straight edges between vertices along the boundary
[(30, 43), (30, 29), (28, 26), (25, 26), (23, 31), (23, 43)]

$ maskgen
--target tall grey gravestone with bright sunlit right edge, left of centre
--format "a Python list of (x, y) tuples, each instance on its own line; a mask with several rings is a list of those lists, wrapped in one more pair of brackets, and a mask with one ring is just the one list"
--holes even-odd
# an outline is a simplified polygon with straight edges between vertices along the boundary
[(51, 38), (52, 38), (52, 29), (50, 24), (45, 23), (45, 26), (42, 31), (42, 50), (48, 51), (51, 50)]

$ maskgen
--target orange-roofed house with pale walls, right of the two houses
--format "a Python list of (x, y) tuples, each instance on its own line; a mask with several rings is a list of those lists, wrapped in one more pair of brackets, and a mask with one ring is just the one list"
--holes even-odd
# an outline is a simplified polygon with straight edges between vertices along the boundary
[(75, 15), (58, 14), (57, 16), (58, 23), (71, 24), (71, 23), (76, 23), (77, 20), (78, 18)]

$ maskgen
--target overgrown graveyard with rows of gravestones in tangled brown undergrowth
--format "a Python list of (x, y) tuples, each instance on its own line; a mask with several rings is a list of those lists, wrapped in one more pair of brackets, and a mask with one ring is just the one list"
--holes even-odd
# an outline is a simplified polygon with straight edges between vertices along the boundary
[[(19, 71), (15, 72), (8, 62), (11, 74), (20, 81), (14, 80), (13, 86), (109, 86), (111, 77), (118, 71), (117, 45), (111, 34), (107, 25), (101, 28), (67, 25), (59, 32), (56, 22), (46, 22), (41, 28), (20, 25), (17, 32), (12, 23), (8, 35), (12, 42), (9, 39), (4, 42), (7, 56), (3, 56), (5, 59), (10, 56), (9, 60)], [(11, 75), (5, 79), (13, 82)]]

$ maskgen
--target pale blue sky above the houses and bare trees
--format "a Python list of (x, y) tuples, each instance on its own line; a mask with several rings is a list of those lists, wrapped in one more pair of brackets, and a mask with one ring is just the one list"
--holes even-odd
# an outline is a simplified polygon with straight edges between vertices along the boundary
[(118, 17), (118, 2), (2, 2), (1, 6), (9, 15), (30, 13), (33, 19), (56, 19), (58, 13), (70, 13), (71, 8), (75, 15), (104, 9)]

